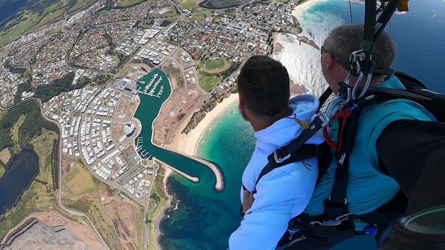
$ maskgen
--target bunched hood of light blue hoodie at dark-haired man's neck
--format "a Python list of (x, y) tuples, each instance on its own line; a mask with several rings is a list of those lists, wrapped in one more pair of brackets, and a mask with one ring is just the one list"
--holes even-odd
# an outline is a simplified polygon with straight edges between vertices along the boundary
[[(319, 101), (312, 94), (302, 94), (290, 99), (289, 107), (293, 110), (291, 116), (282, 118), (267, 128), (255, 132), (257, 149), (268, 155), (275, 149), (289, 144), (303, 131), (303, 128), (295, 122), (294, 116), (299, 120), (311, 123), (318, 106)], [(323, 142), (323, 139), (319, 137), (316, 134), (306, 143), (319, 144)]]

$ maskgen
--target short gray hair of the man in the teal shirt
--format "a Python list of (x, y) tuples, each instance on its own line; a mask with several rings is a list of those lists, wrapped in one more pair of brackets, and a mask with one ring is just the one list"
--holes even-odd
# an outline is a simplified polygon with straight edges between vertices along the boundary
[[(326, 52), (330, 52), (337, 63), (346, 70), (351, 69), (349, 57), (352, 52), (359, 50), (363, 41), (362, 24), (345, 24), (336, 27), (324, 40), (323, 46)], [(390, 68), (396, 59), (396, 45), (391, 36), (383, 31), (380, 37), (374, 42), (372, 60), (375, 62), (375, 69)]]

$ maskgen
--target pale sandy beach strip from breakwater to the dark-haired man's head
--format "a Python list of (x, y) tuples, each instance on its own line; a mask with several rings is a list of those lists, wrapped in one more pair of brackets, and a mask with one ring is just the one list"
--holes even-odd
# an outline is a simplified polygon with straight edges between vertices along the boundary
[[(217, 106), (212, 109), (209, 113), (206, 114), (204, 119), (199, 122), (199, 124), (193, 128), (188, 135), (186, 134), (177, 134), (173, 139), (173, 142), (168, 145), (164, 145), (166, 148), (170, 148), (179, 152), (182, 152), (187, 155), (194, 156), (196, 153), (196, 147), (204, 134), (204, 131), (212, 124), (212, 122), (220, 116), (223, 111), (230, 106), (232, 103), (238, 100), (238, 94), (230, 94), (229, 97), (224, 98), (221, 103), (218, 103)], [(182, 128), (181, 128), (182, 129)], [(180, 131), (182, 131), (180, 129)]]

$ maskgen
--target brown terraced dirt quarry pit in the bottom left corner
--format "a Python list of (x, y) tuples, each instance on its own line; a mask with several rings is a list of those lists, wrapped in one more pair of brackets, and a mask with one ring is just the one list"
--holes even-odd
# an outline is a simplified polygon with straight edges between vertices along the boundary
[(33, 212), (9, 231), (1, 249), (106, 249), (95, 232), (82, 222), (69, 220), (59, 212)]

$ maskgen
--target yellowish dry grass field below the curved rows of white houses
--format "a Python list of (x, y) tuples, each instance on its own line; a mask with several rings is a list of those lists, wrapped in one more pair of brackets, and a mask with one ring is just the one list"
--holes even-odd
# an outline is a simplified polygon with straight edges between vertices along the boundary
[(67, 193), (71, 195), (81, 195), (97, 190), (97, 186), (91, 177), (89, 171), (80, 163), (71, 167), (68, 174), (63, 177)]

